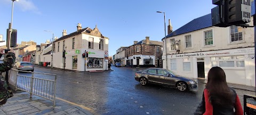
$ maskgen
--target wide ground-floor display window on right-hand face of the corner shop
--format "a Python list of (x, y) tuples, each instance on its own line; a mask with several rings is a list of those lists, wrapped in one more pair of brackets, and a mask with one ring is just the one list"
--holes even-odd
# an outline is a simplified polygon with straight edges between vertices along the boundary
[(89, 57), (87, 68), (103, 68), (103, 58)]

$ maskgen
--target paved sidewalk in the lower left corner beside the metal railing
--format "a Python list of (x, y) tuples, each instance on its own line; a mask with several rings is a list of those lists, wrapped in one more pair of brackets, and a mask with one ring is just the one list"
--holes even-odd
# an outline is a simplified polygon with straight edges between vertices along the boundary
[(53, 102), (45, 98), (33, 95), (29, 98), (29, 93), (14, 93), (14, 96), (7, 100), (7, 103), (0, 107), (0, 114), (96, 114), (93, 111), (85, 110), (79, 106), (56, 100)]

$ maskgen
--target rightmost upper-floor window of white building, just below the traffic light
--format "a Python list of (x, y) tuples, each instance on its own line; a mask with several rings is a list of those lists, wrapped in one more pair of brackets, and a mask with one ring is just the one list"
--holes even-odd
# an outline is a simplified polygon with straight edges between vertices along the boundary
[(242, 27), (230, 26), (231, 42), (243, 40)]

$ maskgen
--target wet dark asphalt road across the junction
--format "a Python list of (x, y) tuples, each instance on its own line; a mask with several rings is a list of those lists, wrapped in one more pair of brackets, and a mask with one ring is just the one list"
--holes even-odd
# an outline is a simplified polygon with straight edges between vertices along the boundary
[[(115, 71), (70, 72), (35, 68), (35, 72), (57, 74), (57, 97), (84, 105), (99, 114), (193, 114), (202, 100), (204, 84), (198, 84), (197, 91), (187, 92), (157, 85), (141, 86), (134, 75), (145, 68), (112, 69)], [(53, 76), (35, 77), (54, 79)], [(236, 92), (242, 103), (243, 94), (255, 94)]]

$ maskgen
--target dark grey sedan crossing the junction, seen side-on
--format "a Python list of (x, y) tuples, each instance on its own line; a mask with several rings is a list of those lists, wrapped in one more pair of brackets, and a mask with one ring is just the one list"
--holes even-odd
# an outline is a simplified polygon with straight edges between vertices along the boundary
[(186, 91), (187, 89), (197, 89), (197, 81), (181, 77), (173, 71), (162, 68), (150, 68), (135, 73), (135, 80), (139, 81), (141, 85), (149, 83), (160, 84), (178, 88), (179, 91)]

